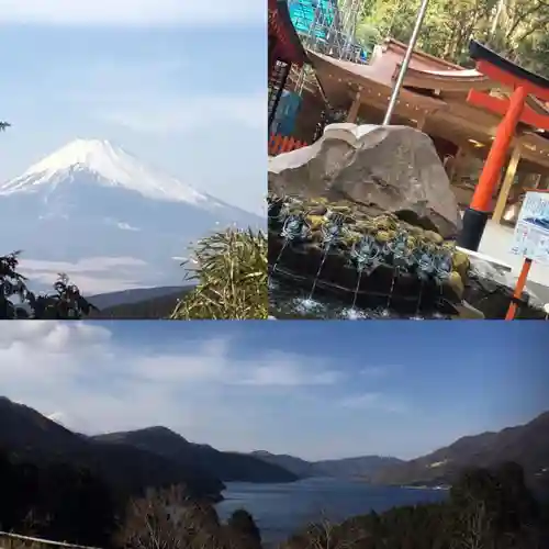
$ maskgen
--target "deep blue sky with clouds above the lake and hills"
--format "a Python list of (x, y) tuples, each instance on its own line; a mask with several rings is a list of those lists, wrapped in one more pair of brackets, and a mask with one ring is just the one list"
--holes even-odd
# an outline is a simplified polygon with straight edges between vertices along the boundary
[(0, 392), (75, 430), (402, 458), (549, 410), (542, 323), (7, 322)]

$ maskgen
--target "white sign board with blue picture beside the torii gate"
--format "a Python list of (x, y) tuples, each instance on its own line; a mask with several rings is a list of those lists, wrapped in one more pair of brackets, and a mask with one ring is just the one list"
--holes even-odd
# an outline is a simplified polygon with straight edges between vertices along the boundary
[(549, 265), (549, 193), (526, 193), (511, 253)]

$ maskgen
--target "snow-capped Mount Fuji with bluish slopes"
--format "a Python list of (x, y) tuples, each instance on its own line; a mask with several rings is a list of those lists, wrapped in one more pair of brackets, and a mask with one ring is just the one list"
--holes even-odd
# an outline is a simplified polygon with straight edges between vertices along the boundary
[(0, 186), (0, 255), (21, 249), (31, 281), (66, 272), (85, 294), (180, 284), (189, 245), (231, 225), (265, 220), (108, 141), (74, 141)]

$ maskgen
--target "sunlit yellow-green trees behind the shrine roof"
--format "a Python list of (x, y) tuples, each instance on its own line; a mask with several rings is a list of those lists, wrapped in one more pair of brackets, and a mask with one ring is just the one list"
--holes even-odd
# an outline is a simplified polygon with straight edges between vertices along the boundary
[[(407, 43), (418, 2), (365, 0), (361, 25), (381, 37)], [(360, 29), (360, 25), (359, 25)], [(549, 1), (430, 0), (417, 46), (437, 57), (471, 66), (475, 38), (525, 68), (549, 76)]]

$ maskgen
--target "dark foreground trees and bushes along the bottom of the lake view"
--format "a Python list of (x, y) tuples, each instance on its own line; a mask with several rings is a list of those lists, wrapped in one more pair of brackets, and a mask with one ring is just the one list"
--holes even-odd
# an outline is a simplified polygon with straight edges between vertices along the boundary
[[(86, 469), (15, 462), (0, 452), (0, 529), (112, 549), (260, 549), (253, 516), (225, 525), (183, 486), (123, 501)], [(439, 504), (371, 512), (341, 524), (312, 524), (281, 549), (542, 549), (549, 506), (536, 501), (522, 469), (506, 463), (463, 471)], [(31, 520), (32, 519), (32, 520)], [(32, 523), (32, 524), (31, 524)]]

